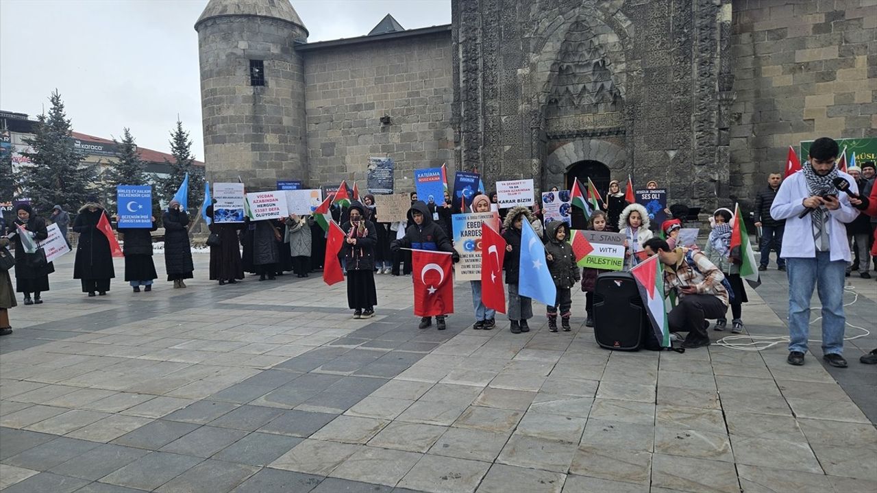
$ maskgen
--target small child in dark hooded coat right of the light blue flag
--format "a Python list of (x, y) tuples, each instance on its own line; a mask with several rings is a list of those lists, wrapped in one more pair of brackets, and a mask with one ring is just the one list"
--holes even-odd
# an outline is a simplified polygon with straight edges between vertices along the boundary
[[(602, 212), (601, 212), (602, 213)], [(548, 241), (545, 243), (545, 260), (551, 272), (557, 298), (553, 305), (547, 306), (548, 330), (557, 332), (557, 311), (560, 307), (560, 324), (564, 332), (569, 332), (569, 309), (573, 306), (570, 290), (581, 279), (579, 267), (575, 265), (573, 247), (570, 246), (569, 226), (565, 221), (552, 221), (545, 227)]]

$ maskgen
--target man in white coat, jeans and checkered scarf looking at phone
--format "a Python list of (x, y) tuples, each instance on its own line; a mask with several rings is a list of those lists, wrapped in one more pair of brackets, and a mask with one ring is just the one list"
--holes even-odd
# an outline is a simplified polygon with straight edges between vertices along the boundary
[(822, 303), (823, 359), (833, 367), (846, 368), (844, 359), (844, 275), (850, 246), (844, 224), (859, 211), (845, 193), (838, 194), (833, 180), (849, 182), (859, 193), (852, 176), (838, 170), (838, 143), (828, 137), (810, 146), (809, 161), (789, 176), (777, 191), (771, 217), (786, 219), (781, 257), (788, 268), (788, 363), (804, 364), (809, 336), (810, 298), (818, 286)]

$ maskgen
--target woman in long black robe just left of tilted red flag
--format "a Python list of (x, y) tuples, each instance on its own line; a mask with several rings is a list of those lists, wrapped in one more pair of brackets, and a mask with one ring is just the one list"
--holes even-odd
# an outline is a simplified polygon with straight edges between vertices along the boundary
[(97, 229), (97, 223), (105, 214), (103, 205), (91, 200), (82, 206), (73, 223), (73, 231), (79, 233), (73, 278), (82, 282), (82, 292), (89, 293), (89, 297), (95, 296), (95, 291), (102, 297), (106, 295), (110, 290), (110, 280), (116, 277), (110, 240)]

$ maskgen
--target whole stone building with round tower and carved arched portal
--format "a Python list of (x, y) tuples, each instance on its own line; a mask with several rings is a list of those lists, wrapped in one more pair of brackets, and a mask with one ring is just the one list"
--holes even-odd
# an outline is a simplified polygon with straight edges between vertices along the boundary
[(446, 162), (538, 189), (632, 175), (709, 208), (750, 200), (789, 145), (877, 137), (874, 0), (449, 1), (450, 25), (376, 15), (309, 43), (289, 0), (210, 0), (210, 179), (364, 189), (389, 156), (398, 192)]

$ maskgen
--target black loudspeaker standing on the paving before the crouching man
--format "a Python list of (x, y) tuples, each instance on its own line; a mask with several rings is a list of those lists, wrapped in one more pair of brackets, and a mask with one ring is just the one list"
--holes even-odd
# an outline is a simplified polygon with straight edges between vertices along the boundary
[(649, 324), (637, 282), (629, 272), (597, 276), (594, 289), (594, 337), (607, 349), (638, 351)]

